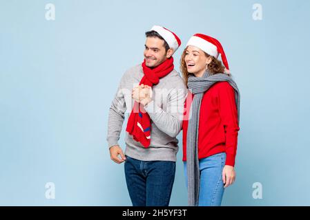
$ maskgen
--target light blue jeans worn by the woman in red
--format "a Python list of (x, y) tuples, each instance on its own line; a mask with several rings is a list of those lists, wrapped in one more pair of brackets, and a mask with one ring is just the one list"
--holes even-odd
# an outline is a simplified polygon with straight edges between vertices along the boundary
[[(199, 160), (200, 191), (198, 206), (221, 206), (224, 194), (222, 171), (225, 165), (226, 153), (217, 153)], [(184, 174), (187, 188), (186, 162)]]

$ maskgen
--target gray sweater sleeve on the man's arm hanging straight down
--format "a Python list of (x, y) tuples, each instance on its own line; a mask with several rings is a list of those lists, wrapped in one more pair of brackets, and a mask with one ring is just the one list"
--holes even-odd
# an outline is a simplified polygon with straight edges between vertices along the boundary
[(122, 77), (121, 82), (117, 92), (113, 98), (112, 104), (110, 106), (110, 111), (108, 113), (108, 135), (106, 140), (108, 141), (108, 147), (119, 145), (119, 135), (122, 131), (122, 126), (125, 119), (126, 112), (126, 102), (124, 98), (124, 93), (122, 85), (124, 84), (124, 76)]

